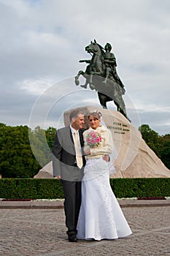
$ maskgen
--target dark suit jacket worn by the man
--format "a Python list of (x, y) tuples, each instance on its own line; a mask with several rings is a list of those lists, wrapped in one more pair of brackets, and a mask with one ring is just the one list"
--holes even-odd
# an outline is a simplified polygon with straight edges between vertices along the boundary
[[(82, 132), (84, 130), (80, 129), (81, 146), (84, 145)], [(85, 166), (84, 156), (82, 156), (82, 160), (83, 166)], [(74, 167), (75, 161), (76, 153), (70, 127), (58, 129), (53, 146), (53, 176), (60, 175), (62, 179), (67, 181), (81, 181), (84, 167), (81, 169)]]

